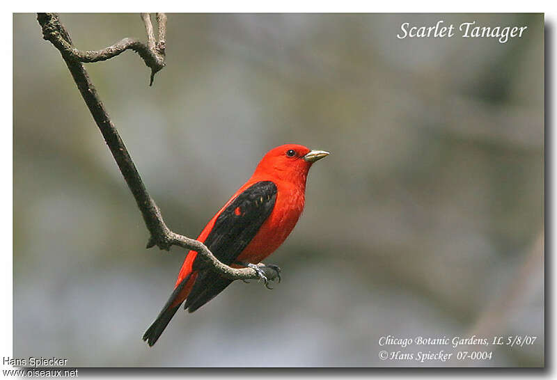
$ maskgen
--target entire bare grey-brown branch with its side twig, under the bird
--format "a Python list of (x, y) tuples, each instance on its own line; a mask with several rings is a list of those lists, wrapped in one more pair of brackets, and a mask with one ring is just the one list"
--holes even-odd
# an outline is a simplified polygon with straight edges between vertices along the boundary
[[(141, 211), (143, 220), (149, 230), (151, 236), (147, 244), (147, 248), (158, 246), (162, 250), (168, 251), (171, 246), (180, 246), (182, 248), (196, 251), (205, 264), (210, 266), (213, 271), (216, 271), (221, 276), (230, 280), (257, 280), (260, 278), (258, 271), (253, 268), (236, 269), (229, 267), (220, 262), (211, 253), (209, 248), (202, 242), (196, 239), (190, 239), (171, 231), (162, 218), (162, 214), (153, 200), (137, 168), (127, 151), (124, 142), (118, 134), (118, 130), (113, 125), (107, 110), (100, 101), (100, 98), (95, 90), (95, 86), (89, 79), (89, 76), (84, 68), (83, 63), (106, 61), (113, 58), (118, 54), (125, 52), (127, 49), (132, 49), (139, 54), (146, 65), (151, 69), (150, 85), (152, 84), (153, 77), (156, 72), (162, 70), (165, 65), (165, 49), (166, 49), (166, 15), (164, 13), (157, 13), (158, 24), (158, 40), (155, 39), (155, 32), (153, 31), (150, 15), (148, 13), (141, 13), (141, 19), (145, 24), (148, 42), (147, 45), (139, 40), (132, 38), (124, 38), (116, 44), (106, 47), (102, 50), (81, 52), (72, 45), (72, 40), (68, 31), (66, 31), (63, 24), (56, 13), (38, 13), (37, 20), (42, 27), (42, 35), (45, 40), (52, 42), (62, 54), (72, 77), (77, 84), (77, 88), (81, 93), (86, 105), (100, 132), (106, 141), (112, 156), (120, 168), (125, 181), (127, 182), (130, 191), (136, 200), (137, 206)], [(279, 270), (276, 267), (267, 267), (265, 264), (259, 263), (260, 271), (265, 272), (265, 276), (269, 280), (280, 278)]]

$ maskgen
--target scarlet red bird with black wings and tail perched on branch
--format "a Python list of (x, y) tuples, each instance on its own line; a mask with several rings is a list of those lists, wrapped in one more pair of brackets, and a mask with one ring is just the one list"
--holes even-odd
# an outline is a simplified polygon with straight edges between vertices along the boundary
[[(292, 232), (304, 209), (309, 168), (327, 155), (297, 144), (269, 150), (251, 178), (205, 225), (198, 241), (224, 264), (256, 269), (253, 264), (267, 258)], [(182, 302), (194, 312), (232, 283), (203, 269), (196, 258), (197, 252), (189, 251), (174, 292), (143, 335), (148, 345), (155, 345)], [(262, 271), (258, 274), (267, 283)]]

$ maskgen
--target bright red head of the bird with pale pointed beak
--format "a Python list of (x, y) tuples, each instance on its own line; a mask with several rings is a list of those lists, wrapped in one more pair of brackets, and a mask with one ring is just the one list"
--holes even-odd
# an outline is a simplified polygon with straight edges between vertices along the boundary
[(311, 165), (329, 152), (324, 150), (311, 150), (304, 145), (285, 144), (269, 150), (259, 162), (254, 175), (275, 177), (286, 180), (306, 183)]

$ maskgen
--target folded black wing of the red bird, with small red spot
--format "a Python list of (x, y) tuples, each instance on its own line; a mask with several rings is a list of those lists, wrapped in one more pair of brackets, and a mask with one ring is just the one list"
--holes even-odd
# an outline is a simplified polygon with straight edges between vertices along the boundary
[[(261, 181), (251, 185), (223, 209), (205, 239), (205, 245), (221, 262), (232, 264), (256, 236), (263, 222), (271, 214), (275, 201), (276, 185), (273, 182)], [(230, 283), (232, 280), (223, 278), (210, 269), (201, 269), (184, 308), (194, 312)]]

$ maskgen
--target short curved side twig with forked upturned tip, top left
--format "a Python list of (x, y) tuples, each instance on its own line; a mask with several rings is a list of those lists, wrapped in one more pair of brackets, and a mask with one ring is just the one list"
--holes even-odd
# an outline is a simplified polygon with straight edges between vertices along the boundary
[[(70, 40), (70, 36), (68, 33), (64, 35), (60, 35), (61, 31), (58, 28), (58, 24), (60, 24), (60, 20), (58, 19), (58, 15), (54, 13), (44, 13), (43, 15), (52, 15), (52, 17), (46, 17), (45, 24), (41, 24), (42, 26), (42, 34), (45, 40), (49, 40), (52, 44), (60, 50), (60, 52), (64, 56), (68, 56), (74, 61), (79, 61), (83, 63), (92, 63), (92, 62), (99, 62), (99, 61), (106, 61), (107, 59), (113, 58), (125, 52), (126, 50), (130, 49), (139, 54), (143, 61), (151, 69), (151, 77), (150, 77), (150, 84), (152, 85), (153, 78), (155, 74), (164, 68), (166, 65), (165, 60), (165, 52), (164, 49), (157, 49), (155, 43), (155, 34), (152, 32), (152, 25), (151, 20), (148, 13), (142, 13), (141, 17), (143, 18), (143, 22), (146, 24), (146, 30), (148, 32), (149, 42), (148, 45), (145, 45), (140, 40), (136, 40), (134, 38), (123, 38), (122, 40), (116, 42), (114, 45), (109, 47), (105, 47), (104, 49), (100, 50), (88, 50), (86, 52), (82, 52), (79, 49), (76, 49), (72, 45), (72, 41)], [(146, 21), (146, 15), (148, 22)], [(162, 17), (164, 19), (163, 29), (166, 31), (166, 15)], [(150, 29), (150, 33), (149, 33)], [(161, 29), (161, 25), (159, 24), (159, 30)], [(159, 36), (161, 33), (159, 32)], [(163, 35), (164, 37), (164, 35)], [(163, 42), (163, 45), (166, 45), (166, 42)]]

